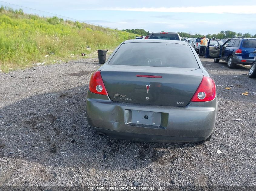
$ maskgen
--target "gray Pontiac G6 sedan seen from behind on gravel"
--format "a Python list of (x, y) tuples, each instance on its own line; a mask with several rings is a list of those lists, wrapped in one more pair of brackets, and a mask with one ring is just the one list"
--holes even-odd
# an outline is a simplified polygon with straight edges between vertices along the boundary
[(94, 129), (139, 142), (208, 141), (218, 99), (215, 83), (187, 42), (127, 40), (89, 82)]

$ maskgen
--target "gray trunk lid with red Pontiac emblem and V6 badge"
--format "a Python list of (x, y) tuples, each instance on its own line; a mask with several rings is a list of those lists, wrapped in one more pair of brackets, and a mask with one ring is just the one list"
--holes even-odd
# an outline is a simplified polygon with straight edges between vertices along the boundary
[(101, 76), (113, 101), (183, 107), (193, 97), (203, 73), (200, 68), (105, 65)]

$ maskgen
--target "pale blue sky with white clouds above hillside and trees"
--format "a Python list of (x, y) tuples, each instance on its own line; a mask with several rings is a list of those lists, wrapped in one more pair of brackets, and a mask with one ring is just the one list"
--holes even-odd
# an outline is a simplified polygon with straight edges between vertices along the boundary
[[(204, 35), (218, 33), (221, 30), (256, 33), (255, 0), (222, 0), (214, 3), (202, 0), (6, 0), (5, 2), (118, 29), (143, 28), (150, 32), (163, 30)], [(5, 5), (0, 2), (1, 4)], [(29, 9), (24, 11), (28, 12)]]

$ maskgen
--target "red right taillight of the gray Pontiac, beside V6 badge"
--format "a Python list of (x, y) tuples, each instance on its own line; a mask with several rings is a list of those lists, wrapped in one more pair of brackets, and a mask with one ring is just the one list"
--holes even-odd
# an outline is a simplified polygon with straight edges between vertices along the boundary
[(216, 97), (213, 79), (204, 76), (191, 101), (211, 101)]

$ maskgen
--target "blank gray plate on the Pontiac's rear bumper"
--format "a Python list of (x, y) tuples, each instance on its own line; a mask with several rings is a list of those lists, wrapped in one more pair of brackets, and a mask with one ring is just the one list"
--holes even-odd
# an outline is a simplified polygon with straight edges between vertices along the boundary
[(160, 126), (161, 113), (153, 111), (132, 110), (131, 123)]

